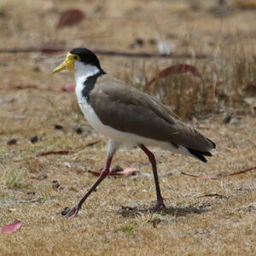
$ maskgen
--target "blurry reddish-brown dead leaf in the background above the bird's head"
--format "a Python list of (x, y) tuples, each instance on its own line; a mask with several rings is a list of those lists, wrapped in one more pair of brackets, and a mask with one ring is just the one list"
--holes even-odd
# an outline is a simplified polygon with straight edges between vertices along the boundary
[(79, 9), (68, 9), (61, 14), (57, 27), (73, 26), (81, 20), (84, 20), (84, 13), (82, 11)]

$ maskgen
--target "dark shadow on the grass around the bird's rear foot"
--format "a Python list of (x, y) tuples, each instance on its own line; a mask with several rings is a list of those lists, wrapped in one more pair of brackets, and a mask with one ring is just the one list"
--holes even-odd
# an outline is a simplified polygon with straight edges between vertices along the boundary
[[(190, 205), (189, 207), (166, 207), (161, 208), (157, 211), (163, 215), (172, 215), (175, 217), (187, 216), (188, 214), (201, 214), (203, 212), (209, 212), (211, 210), (211, 205)], [(141, 214), (148, 212), (155, 212), (154, 207), (124, 207), (121, 206), (118, 213), (123, 217), (136, 217)]]

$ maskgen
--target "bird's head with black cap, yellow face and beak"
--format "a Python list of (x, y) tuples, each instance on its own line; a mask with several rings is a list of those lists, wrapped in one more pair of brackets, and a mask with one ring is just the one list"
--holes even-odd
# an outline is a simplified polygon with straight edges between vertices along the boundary
[(60, 72), (65, 68), (72, 72), (73, 69), (76, 71), (76, 68), (85, 67), (96, 67), (96, 69), (102, 70), (100, 61), (90, 49), (75, 48), (67, 54), (66, 60), (55, 68), (54, 73)]

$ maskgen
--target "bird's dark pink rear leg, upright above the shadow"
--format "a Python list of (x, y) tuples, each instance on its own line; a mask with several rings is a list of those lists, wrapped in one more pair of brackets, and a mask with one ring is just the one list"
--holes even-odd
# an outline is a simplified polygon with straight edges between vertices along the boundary
[(154, 207), (154, 210), (157, 211), (157, 210), (160, 210), (160, 208), (166, 208), (164, 204), (164, 199), (160, 192), (160, 185), (159, 185), (158, 176), (157, 176), (156, 161), (154, 158), (154, 154), (151, 151), (149, 151), (148, 148), (146, 148), (143, 144), (140, 145), (140, 148), (142, 148), (145, 154), (148, 155), (148, 160), (150, 161), (153, 169), (154, 184), (155, 184), (155, 190), (156, 190), (156, 196), (157, 196), (157, 203), (156, 203), (156, 206)]

